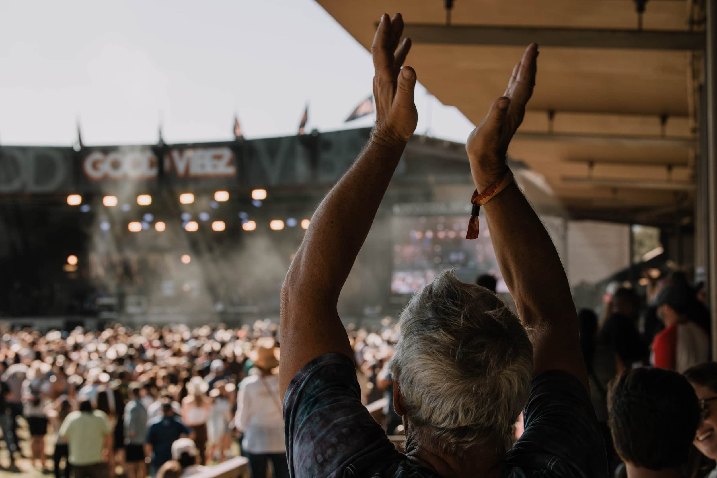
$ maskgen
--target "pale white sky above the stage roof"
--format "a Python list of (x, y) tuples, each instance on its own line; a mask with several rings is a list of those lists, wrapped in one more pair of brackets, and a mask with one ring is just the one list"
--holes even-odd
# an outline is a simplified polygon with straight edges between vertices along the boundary
[[(376, 11), (376, 19), (380, 14)], [(393, 13), (393, 12), (389, 12)], [(409, 62), (410, 64), (410, 57)], [(420, 79), (421, 72), (417, 72)], [(371, 94), (371, 57), (313, 0), (2, 1), (0, 144), (85, 145), (292, 135), (343, 120)], [(420, 87), (417, 133), (473, 126)], [(427, 102), (431, 102), (428, 105)]]

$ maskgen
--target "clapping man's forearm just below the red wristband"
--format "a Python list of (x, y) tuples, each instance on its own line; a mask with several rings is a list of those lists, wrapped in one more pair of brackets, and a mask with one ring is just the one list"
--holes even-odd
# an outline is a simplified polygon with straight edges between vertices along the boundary
[(483, 206), (495, 256), (518, 315), (532, 328), (547, 321), (577, 327), (563, 264), (528, 200), (513, 183)]

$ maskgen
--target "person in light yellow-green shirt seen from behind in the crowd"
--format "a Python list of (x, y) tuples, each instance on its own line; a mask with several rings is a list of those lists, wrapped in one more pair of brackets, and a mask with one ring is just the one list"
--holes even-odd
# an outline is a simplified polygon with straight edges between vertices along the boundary
[[(59, 436), (67, 439), (69, 462), (75, 478), (107, 478), (111, 463), (112, 425), (108, 416), (92, 409), (92, 403), (80, 402), (80, 410), (67, 415)], [(110, 463), (105, 463), (105, 459)]]

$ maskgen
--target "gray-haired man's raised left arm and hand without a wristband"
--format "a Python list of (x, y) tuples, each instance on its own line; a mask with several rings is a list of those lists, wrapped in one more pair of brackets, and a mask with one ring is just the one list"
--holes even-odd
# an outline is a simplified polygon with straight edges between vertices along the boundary
[(353, 358), (336, 302), (417, 123), (416, 73), (402, 69), (411, 42), (404, 39), (399, 46), (402, 31), (400, 14), (381, 16), (371, 45), (376, 128), (313, 214), (282, 287), (282, 397), (293, 376), (313, 358), (330, 352)]

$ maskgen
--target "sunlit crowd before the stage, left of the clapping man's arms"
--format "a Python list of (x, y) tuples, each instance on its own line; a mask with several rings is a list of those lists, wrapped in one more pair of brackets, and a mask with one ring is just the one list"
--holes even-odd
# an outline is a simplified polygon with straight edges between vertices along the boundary
[[(49, 469), (49, 437), (57, 478), (71, 469), (77, 478), (115, 469), (143, 478), (172, 460), (186, 464), (185, 452), (198, 465), (223, 462), (237, 435), (252, 468), (272, 460), (276, 476), (288, 476), (275, 335), (267, 322), (236, 330), (9, 331), (0, 341), (9, 466), (24, 451), (18, 426), (27, 424), (29, 459)], [(184, 476), (199, 470), (183, 469)]]

